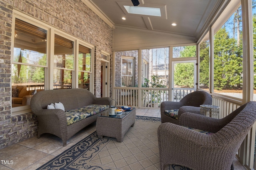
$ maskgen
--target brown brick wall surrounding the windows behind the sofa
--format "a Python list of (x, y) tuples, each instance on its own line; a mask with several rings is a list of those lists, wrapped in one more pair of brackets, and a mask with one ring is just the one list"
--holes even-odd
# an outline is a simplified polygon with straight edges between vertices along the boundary
[(94, 93), (100, 96), (101, 50), (112, 51), (112, 28), (80, 0), (0, 1), (0, 148), (37, 134), (33, 113), (11, 117), (11, 35), (13, 9), (95, 46)]

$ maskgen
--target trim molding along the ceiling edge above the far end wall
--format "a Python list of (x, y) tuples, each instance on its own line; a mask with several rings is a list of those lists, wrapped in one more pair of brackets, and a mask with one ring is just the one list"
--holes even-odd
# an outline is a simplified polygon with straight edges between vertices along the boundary
[(115, 29), (116, 28), (120, 28), (120, 29), (124, 29), (124, 30), (137, 31), (137, 32), (145, 32), (145, 33), (150, 33), (150, 34), (159, 34), (159, 35), (164, 35), (164, 36), (172, 36), (172, 37), (176, 37), (176, 38), (186, 38), (188, 40), (195, 40), (195, 38), (193, 36), (184, 35), (184, 34), (168, 33), (168, 32), (162, 32), (162, 31), (157, 31), (157, 30), (146, 30), (146, 29), (141, 29), (141, 28), (121, 26), (121, 25), (115, 25)]

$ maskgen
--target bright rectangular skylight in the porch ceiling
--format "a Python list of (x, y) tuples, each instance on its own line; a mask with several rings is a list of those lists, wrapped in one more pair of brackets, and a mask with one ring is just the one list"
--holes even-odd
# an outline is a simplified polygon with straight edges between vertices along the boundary
[(125, 6), (124, 8), (129, 14), (140, 14), (150, 16), (161, 16), (160, 8), (149, 8), (140, 6)]

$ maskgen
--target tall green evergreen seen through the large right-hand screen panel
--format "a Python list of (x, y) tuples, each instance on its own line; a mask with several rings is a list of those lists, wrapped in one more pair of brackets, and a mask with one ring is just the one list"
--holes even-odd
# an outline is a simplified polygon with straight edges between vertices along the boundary
[(222, 27), (214, 35), (214, 89), (234, 89), (241, 84), (242, 44)]

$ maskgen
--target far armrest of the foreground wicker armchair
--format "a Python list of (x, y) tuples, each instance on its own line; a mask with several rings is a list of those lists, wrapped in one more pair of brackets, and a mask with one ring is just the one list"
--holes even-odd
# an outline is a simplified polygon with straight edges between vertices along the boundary
[(195, 113), (183, 113), (179, 117), (179, 125), (216, 133), (226, 125), (226, 122)]

